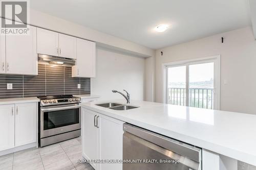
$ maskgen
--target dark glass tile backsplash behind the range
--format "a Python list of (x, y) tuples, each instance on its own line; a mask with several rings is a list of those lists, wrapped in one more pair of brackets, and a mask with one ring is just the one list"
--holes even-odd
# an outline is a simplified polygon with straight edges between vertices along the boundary
[[(38, 64), (38, 76), (0, 75), (0, 99), (90, 94), (90, 78), (72, 78), (71, 74), (71, 67)], [(12, 83), (12, 90), (7, 90), (7, 83)]]

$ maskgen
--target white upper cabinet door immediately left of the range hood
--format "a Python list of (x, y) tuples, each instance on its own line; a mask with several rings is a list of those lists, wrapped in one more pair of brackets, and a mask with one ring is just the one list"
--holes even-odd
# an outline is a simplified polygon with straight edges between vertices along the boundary
[(6, 35), (6, 73), (37, 75), (36, 27), (28, 35)]

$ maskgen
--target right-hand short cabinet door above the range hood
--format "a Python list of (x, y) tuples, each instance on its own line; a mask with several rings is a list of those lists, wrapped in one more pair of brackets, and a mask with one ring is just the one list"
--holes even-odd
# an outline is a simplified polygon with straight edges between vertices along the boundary
[(59, 57), (76, 59), (76, 37), (59, 34)]

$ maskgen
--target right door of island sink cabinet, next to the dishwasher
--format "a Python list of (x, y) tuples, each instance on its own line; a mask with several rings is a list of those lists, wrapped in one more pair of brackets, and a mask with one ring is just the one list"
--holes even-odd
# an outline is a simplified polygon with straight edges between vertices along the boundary
[[(105, 115), (99, 115), (99, 159), (122, 159), (123, 157), (123, 123)], [(122, 169), (121, 163), (101, 163), (100, 170)]]

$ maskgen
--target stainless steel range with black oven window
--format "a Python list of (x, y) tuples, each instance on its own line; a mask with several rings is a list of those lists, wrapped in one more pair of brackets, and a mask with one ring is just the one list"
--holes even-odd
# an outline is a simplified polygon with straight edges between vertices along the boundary
[(81, 135), (80, 98), (73, 95), (39, 96), (40, 147)]

